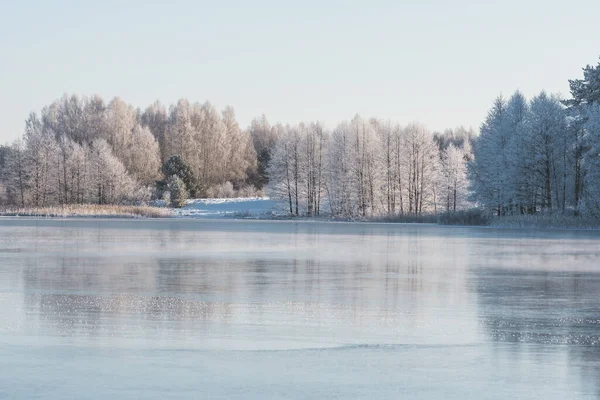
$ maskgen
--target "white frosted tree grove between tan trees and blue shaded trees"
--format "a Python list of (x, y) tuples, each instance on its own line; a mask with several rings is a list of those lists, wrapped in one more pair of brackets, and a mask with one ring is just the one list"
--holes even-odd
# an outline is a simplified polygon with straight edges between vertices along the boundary
[(433, 134), (355, 116), (332, 132), (317, 122), (270, 129), (278, 139), (269, 187), (290, 214), (422, 215), (467, 206), (474, 134), (464, 128)]

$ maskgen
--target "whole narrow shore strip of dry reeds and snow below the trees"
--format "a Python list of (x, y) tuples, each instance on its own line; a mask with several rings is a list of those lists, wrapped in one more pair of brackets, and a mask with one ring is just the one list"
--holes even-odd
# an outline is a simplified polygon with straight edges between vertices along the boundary
[(342, 222), (364, 224), (438, 225), (485, 227), (515, 230), (600, 230), (600, 219), (569, 214), (509, 215), (495, 217), (478, 209), (426, 215), (392, 215), (338, 218), (294, 216), (286, 214), (268, 197), (191, 199), (182, 208), (166, 207), (160, 202), (149, 205), (71, 204), (51, 207), (0, 206), (1, 218), (107, 218), (107, 219), (179, 219), (289, 222)]

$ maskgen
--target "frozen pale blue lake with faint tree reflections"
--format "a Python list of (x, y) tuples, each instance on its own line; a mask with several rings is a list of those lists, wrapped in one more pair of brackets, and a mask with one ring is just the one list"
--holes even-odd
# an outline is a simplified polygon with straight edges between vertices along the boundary
[(600, 398), (600, 233), (0, 219), (32, 398)]

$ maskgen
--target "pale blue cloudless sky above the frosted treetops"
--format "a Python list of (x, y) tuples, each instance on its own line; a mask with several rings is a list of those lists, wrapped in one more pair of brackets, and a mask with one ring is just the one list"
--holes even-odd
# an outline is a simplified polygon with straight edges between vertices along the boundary
[(63, 93), (233, 105), (245, 127), (363, 116), (477, 128), (500, 93), (568, 94), (600, 1), (0, 0), (0, 143)]

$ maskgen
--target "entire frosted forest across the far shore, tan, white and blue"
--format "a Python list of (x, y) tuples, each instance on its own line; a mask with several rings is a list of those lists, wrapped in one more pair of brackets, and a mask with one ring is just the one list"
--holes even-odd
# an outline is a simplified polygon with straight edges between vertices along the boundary
[(181, 99), (135, 108), (64, 95), (0, 146), (0, 203), (19, 207), (144, 204), (188, 197), (281, 200), (295, 216), (600, 217), (600, 63), (571, 97), (496, 98), (479, 132), (359, 115), (240, 128), (232, 107)]

